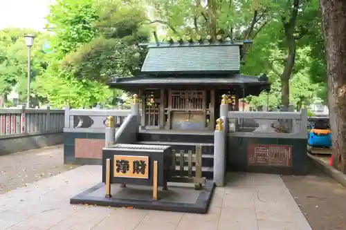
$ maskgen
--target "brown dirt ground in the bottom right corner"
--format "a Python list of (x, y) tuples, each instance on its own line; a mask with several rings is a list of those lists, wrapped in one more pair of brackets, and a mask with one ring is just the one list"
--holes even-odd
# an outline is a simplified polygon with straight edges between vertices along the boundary
[(346, 188), (309, 162), (306, 176), (283, 175), (282, 180), (313, 230), (346, 229)]

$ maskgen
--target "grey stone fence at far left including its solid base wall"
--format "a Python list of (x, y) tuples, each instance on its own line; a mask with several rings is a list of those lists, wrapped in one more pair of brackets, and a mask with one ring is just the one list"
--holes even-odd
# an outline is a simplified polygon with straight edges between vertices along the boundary
[(64, 110), (0, 108), (0, 155), (62, 144)]

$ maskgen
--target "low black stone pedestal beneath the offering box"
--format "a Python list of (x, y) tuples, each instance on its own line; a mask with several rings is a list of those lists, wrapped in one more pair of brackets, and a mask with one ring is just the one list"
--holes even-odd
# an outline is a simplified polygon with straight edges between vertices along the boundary
[(159, 200), (152, 200), (152, 186), (111, 184), (111, 198), (105, 198), (104, 183), (71, 198), (71, 204), (93, 204), (111, 207), (132, 207), (186, 213), (207, 213), (215, 184), (207, 181), (203, 189), (194, 190), (194, 184), (169, 183), (168, 190), (158, 190)]

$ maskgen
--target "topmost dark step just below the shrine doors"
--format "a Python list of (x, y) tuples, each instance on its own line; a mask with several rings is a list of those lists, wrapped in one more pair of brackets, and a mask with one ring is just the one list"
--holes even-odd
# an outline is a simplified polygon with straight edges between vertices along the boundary
[(138, 133), (140, 142), (195, 142), (214, 144), (214, 132), (203, 133), (174, 133), (167, 131), (140, 131)]

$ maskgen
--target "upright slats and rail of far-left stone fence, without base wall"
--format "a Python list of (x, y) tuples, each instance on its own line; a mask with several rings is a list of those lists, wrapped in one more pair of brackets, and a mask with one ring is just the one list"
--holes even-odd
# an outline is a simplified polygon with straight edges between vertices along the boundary
[(64, 110), (50, 108), (0, 108), (0, 137), (62, 132)]

